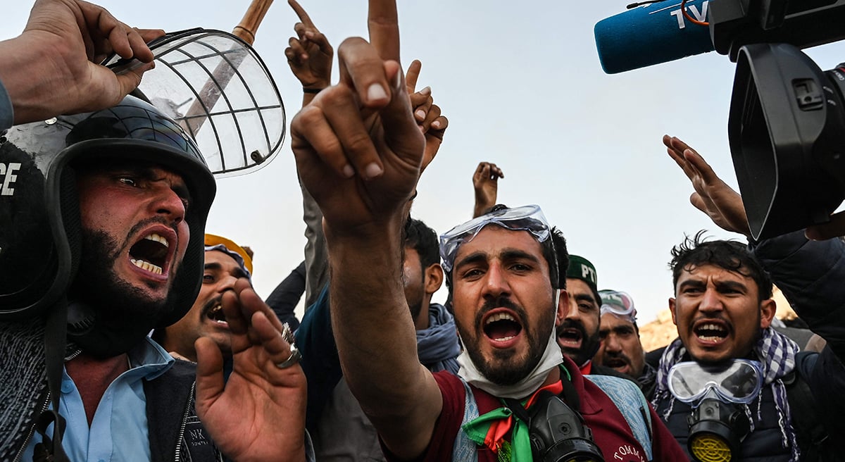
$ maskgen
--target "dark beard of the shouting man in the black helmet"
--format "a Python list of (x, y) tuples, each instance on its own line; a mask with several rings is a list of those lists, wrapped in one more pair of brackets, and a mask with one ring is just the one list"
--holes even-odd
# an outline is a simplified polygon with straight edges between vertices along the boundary
[[(127, 346), (137, 344), (169, 312), (167, 299), (151, 299), (139, 287), (117, 275), (115, 263), (128, 244), (122, 247), (106, 232), (86, 229), (81, 231), (81, 243), (79, 271), (68, 296), (81, 302), (94, 316), (92, 332), (85, 335), (101, 340), (107, 338), (108, 343), (119, 344), (101, 345), (99, 356), (127, 350)], [(89, 343), (85, 339), (78, 342)], [(92, 348), (99, 350), (100, 345), (92, 345)]]

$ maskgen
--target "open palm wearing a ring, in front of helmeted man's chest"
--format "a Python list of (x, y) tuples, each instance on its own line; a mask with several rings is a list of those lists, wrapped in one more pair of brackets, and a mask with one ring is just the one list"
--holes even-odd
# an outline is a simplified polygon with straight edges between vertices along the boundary
[(232, 374), (224, 384), (219, 347), (200, 337), (200, 420), (230, 459), (304, 460), (307, 391), (302, 367), (286, 361), (292, 334), (283, 335), (281, 322), (245, 278), (223, 295), (222, 305), (232, 331)]

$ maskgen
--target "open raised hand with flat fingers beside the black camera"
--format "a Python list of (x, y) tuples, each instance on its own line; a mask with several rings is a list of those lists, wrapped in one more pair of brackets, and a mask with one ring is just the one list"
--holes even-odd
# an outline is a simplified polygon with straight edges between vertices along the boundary
[(748, 217), (739, 193), (719, 178), (695, 149), (675, 137), (663, 135), (663, 144), (669, 157), (690, 178), (695, 193), (690, 202), (706, 213), (720, 228), (750, 236)]

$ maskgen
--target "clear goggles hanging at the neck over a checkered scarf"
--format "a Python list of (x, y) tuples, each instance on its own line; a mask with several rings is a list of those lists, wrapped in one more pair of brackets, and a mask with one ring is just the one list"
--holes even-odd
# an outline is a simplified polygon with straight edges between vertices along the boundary
[(760, 363), (736, 359), (718, 365), (679, 362), (669, 370), (669, 391), (684, 403), (694, 403), (713, 392), (719, 399), (749, 404), (763, 386)]

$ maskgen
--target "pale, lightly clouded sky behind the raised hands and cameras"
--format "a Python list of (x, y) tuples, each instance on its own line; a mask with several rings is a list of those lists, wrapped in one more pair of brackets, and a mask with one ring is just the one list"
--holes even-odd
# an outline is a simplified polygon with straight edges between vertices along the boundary
[[(5, 8), (0, 38), (23, 30), (29, 2)], [(143, 28), (232, 30), (247, 0), (101, 0), (118, 19)], [(367, 36), (364, 0), (302, 0), (332, 45)], [(641, 323), (668, 307), (669, 250), (684, 234), (719, 230), (689, 202), (692, 187), (661, 143), (663, 133), (699, 150), (735, 186), (728, 151), (733, 63), (711, 52), (627, 73), (599, 64), (592, 28), (627, 1), (504, 2), (399, 0), (402, 63), (423, 62), (418, 88), (431, 86), (449, 128), (418, 186), (412, 214), (438, 233), (472, 215), (472, 173), (499, 165), (499, 202), (540, 204), (564, 231), (570, 253), (597, 267), (599, 289), (627, 291)], [(302, 91), (284, 49), (297, 16), (283, 0), (270, 8), (254, 43), (287, 109)], [(808, 52), (833, 68), (845, 47)], [(335, 77), (337, 69), (335, 64)], [(218, 181), (207, 231), (253, 247), (254, 285), (267, 296), (303, 259), (301, 195), (290, 140), (275, 160)], [(434, 299), (442, 302), (445, 289)], [(301, 308), (300, 308), (301, 310)], [(299, 312), (301, 317), (301, 311)]]

